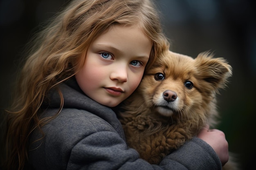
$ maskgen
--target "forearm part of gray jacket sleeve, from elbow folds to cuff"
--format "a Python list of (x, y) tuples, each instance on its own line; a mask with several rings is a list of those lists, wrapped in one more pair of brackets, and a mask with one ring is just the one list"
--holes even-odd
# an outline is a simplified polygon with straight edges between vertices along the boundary
[(137, 151), (128, 149), (116, 133), (102, 131), (84, 138), (74, 146), (67, 169), (218, 170), (221, 169), (221, 164), (211, 146), (194, 138), (168, 155), (159, 166), (150, 165), (139, 159)]

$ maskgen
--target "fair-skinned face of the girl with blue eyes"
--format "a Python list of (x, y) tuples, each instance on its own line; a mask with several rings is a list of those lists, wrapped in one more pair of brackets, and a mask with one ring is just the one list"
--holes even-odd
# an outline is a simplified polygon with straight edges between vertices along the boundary
[(117, 106), (139, 85), (151, 48), (152, 41), (139, 28), (112, 26), (89, 46), (76, 81), (91, 99)]

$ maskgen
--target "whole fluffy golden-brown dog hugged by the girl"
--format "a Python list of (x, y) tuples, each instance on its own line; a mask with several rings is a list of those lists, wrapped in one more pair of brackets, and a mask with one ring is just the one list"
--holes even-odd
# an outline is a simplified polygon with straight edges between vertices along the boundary
[(217, 123), (216, 94), (232, 74), (226, 60), (207, 52), (195, 59), (171, 51), (163, 55), (118, 114), (128, 146), (153, 164), (206, 124)]

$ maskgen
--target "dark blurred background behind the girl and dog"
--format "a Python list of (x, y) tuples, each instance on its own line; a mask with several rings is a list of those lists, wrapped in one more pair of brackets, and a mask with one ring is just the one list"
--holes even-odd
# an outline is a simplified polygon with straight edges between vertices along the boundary
[[(70, 0), (0, 1), (0, 109), (7, 108), (22, 50), (40, 24)], [(233, 67), (218, 96), (229, 150), (241, 169), (256, 153), (256, 12), (253, 0), (155, 0), (171, 50), (191, 57), (212, 51)], [(0, 129), (2, 131), (2, 129)]]

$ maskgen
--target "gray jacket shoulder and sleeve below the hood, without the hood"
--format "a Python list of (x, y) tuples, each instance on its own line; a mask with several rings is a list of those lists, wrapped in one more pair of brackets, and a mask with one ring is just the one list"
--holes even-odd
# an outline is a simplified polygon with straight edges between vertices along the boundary
[[(171, 153), (159, 165), (150, 165), (128, 148), (105, 120), (86, 111), (63, 110), (43, 126), (45, 137), (31, 142), (29, 161), (37, 170), (188, 170), (221, 169), (214, 150), (198, 138)], [(31, 139), (40, 138), (34, 132)]]

